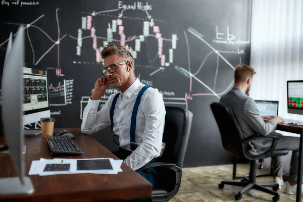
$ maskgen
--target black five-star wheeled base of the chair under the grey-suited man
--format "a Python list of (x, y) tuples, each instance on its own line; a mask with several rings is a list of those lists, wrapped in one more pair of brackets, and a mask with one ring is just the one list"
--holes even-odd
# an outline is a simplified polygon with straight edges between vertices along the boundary
[[(241, 199), (242, 195), (247, 193), (251, 189), (257, 189), (257, 190), (274, 195), (274, 197), (272, 198), (273, 201), (278, 201), (280, 199), (280, 194), (276, 191), (279, 189), (279, 184), (278, 183), (257, 183), (255, 167), (256, 167), (256, 161), (251, 161), (248, 179), (246, 178), (245, 181), (241, 181), (241, 182), (222, 181), (221, 184), (219, 184), (219, 189), (223, 189), (224, 184), (244, 187), (241, 191), (238, 192), (238, 194), (235, 195), (236, 200)], [(267, 189), (265, 187), (272, 187), (273, 190)]]

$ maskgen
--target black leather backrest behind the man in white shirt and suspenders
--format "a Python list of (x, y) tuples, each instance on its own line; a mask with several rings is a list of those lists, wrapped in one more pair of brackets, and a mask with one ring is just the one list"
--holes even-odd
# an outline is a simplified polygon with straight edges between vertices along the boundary
[(166, 144), (161, 162), (175, 163), (183, 167), (191, 128), (192, 113), (181, 107), (165, 107), (163, 142)]

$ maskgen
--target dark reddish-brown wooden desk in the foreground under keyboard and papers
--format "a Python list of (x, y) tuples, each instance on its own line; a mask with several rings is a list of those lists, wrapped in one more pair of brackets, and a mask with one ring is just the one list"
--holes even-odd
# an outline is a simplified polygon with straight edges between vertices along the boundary
[[(84, 154), (62, 158), (113, 158), (118, 159), (90, 135), (84, 135), (78, 128), (69, 129), (75, 134), (75, 143)], [(3, 142), (0, 137), (0, 142)], [(117, 175), (67, 174), (39, 176), (28, 175), (32, 161), (50, 157), (50, 149), (41, 135), (26, 136), (26, 175), (32, 180), (32, 194), (0, 196), (0, 201), (151, 201), (151, 184), (138, 173), (122, 164), (123, 172)], [(60, 157), (58, 157), (60, 158)], [(0, 177), (15, 177), (15, 169), (9, 154), (0, 155)]]

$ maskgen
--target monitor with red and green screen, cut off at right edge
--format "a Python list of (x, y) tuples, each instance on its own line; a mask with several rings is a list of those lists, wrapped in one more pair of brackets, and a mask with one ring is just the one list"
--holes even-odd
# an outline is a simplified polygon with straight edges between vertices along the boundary
[(287, 112), (303, 115), (303, 80), (287, 81)]

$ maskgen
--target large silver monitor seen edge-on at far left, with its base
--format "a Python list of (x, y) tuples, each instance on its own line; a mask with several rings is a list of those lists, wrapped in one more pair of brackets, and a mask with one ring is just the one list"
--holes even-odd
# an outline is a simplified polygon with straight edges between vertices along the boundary
[(6, 144), (14, 163), (17, 177), (0, 178), (0, 195), (32, 193), (32, 182), (25, 174), (24, 135), (22, 130), (23, 82), (24, 66), (24, 26), (20, 26), (13, 42), (10, 35), (4, 61), (1, 81), (1, 118)]

